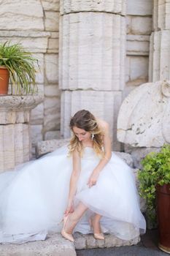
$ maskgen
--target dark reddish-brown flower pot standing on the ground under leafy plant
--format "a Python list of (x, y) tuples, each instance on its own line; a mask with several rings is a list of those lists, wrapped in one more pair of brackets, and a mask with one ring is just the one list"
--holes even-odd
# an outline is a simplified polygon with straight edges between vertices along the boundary
[(158, 247), (170, 254), (170, 184), (157, 186)]

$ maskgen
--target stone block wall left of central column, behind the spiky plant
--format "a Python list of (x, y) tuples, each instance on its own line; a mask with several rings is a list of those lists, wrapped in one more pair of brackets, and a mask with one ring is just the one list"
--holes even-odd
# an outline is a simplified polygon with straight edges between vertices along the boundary
[(36, 83), (45, 101), (31, 113), (33, 145), (59, 137), (58, 89), (59, 0), (0, 1), (0, 42), (20, 42), (39, 60)]

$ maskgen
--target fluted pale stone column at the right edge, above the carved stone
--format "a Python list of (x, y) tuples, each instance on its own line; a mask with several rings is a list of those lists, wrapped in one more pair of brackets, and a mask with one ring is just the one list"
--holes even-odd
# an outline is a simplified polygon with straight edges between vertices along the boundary
[(170, 0), (154, 0), (149, 80), (170, 79)]

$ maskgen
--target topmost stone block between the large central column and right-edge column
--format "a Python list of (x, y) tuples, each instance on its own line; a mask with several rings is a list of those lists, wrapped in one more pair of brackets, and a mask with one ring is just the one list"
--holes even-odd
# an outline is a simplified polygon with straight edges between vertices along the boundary
[(152, 15), (152, 0), (127, 1), (128, 15)]

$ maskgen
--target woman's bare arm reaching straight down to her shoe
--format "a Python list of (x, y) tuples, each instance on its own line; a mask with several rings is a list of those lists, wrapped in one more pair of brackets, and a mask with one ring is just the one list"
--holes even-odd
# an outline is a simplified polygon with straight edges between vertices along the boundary
[(74, 211), (73, 199), (77, 190), (77, 181), (80, 176), (80, 170), (81, 170), (80, 154), (77, 151), (73, 152), (72, 159), (73, 159), (73, 170), (72, 170), (72, 175), (69, 183), (69, 201), (68, 201), (65, 214), (69, 214), (69, 212)]

